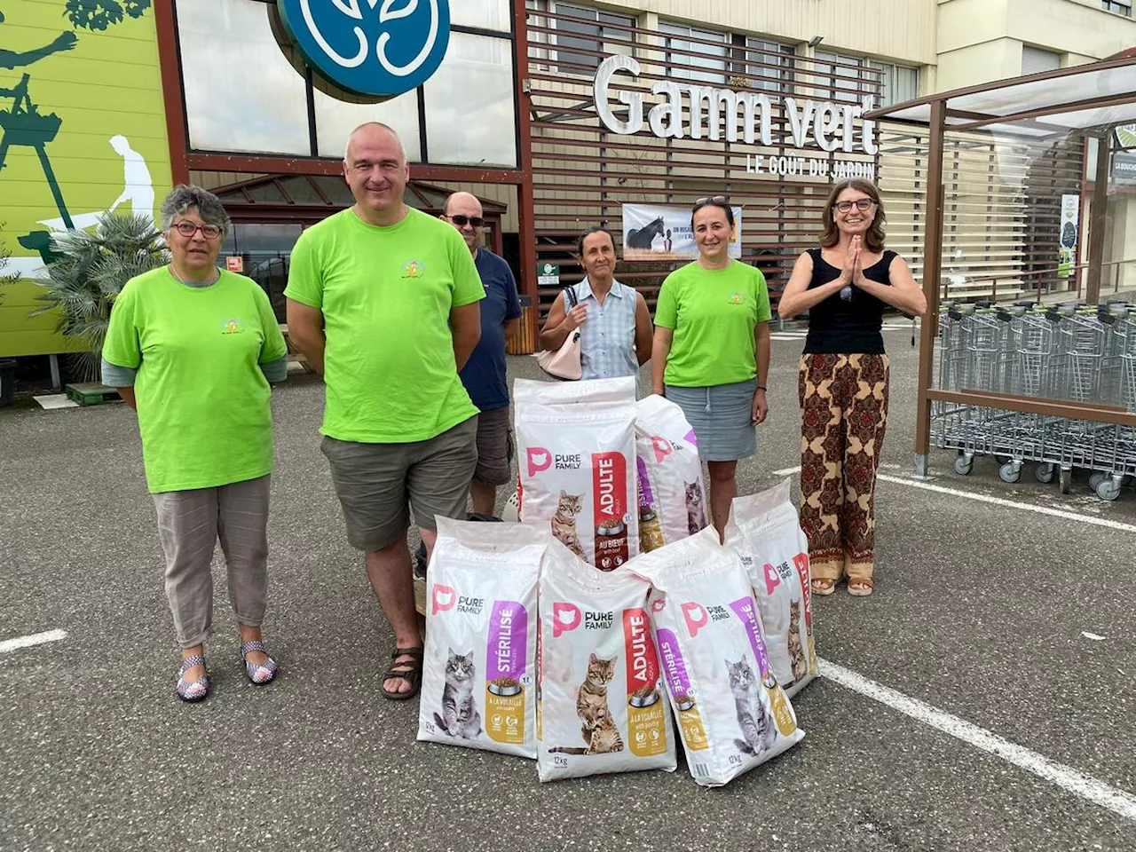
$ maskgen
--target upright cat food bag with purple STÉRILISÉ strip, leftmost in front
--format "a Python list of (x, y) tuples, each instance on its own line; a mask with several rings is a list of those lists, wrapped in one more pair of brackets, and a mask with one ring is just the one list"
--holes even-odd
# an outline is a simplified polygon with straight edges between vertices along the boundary
[(437, 519), (418, 738), (536, 757), (536, 580), (548, 535)]

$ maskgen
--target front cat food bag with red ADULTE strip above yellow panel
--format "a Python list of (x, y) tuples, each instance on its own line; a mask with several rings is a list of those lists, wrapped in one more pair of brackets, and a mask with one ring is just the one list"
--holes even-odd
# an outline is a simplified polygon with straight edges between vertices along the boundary
[(541, 567), (536, 768), (542, 782), (676, 766), (650, 585), (551, 542)]

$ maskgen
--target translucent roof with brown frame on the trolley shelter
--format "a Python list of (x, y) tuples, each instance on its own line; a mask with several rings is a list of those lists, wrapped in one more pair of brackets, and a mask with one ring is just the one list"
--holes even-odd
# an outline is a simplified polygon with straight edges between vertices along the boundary
[(942, 103), (946, 130), (1045, 139), (1136, 122), (1134, 92), (1136, 50), (1089, 65), (938, 92), (875, 109), (866, 118), (928, 125), (933, 106)]

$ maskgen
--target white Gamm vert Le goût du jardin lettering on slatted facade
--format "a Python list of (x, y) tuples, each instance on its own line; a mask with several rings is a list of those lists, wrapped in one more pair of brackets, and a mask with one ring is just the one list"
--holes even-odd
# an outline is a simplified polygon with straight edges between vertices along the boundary
[[(644, 102), (642, 90), (617, 90), (617, 74), (637, 78), (641, 73), (638, 61), (629, 56), (610, 56), (600, 62), (592, 84), (595, 111), (612, 133), (632, 135), (643, 130), (644, 123), (658, 139), (705, 139), (710, 142), (722, 140), (725, 126), (726, 142), (745, 142), (751, 145), (774, 145), (772, 119), (774, 99), (758, 92), (735, 92), (732, 89), (699, 83), (663, 80), (651, 86), (651, 94), (661, 101), (651, 106)], [(616, 90), (616, 91), (613, 91)], [(611, 98), (627, 107), (627, 117), (620, 118), (611, 106)], [(812, 143), (821, 151), (841, 151), (875, 156), (878, 147), (875, 140), (875, 122), (863, 118), (874, 108), (874, 99), (867, 97), (862, 103), (836, 103), (815, 101), (794, 97), (778, 97), (780, 107), (788, 118), (792, 147), (804, 149)], [(778, 144), (780, 141), (778, 141)], [(828, 159), (802, 157), (746, 157), (746, 172), (772, 175), (829, 175)], [(849, 162), (846, 166), (870, 168), (875, 177), (875, 166), (870, 162)], [(847, 168), (838, 166), (837, 172)], [(855, 175), (859, 176), (859, 175)]]

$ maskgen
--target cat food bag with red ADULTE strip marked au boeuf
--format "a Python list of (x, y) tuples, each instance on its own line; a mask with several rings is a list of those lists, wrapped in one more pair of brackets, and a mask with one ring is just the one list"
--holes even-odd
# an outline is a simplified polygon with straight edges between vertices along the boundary
[(610, 571), (638, 553), (635, 379), (513, 384), (520, 521)]

